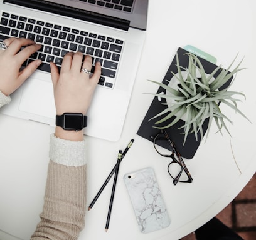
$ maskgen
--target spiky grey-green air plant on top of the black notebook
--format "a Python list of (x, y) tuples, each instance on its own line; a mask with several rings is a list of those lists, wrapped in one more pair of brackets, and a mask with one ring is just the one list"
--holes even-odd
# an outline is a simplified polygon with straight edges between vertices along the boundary
[[(201, 139), (203, 139), (203, 123), (208, 119), (207, 126), (207, 135), (210, 130), (211, 123), (213, 119), (215, 120), (218, 131), (221, 133), (221, 129), (224, 128), (228, 131), (227, 124), (225, 121), (228, 121), (232, 124), (232, 121), (221, 112), (220, 103), (226, 104), (228, 107), (235, 110), (237, 113), (241, 114), (244, 118), (250, 121), (245, 114), (243, 114), (237, 108), (237, 101), (240, 99), (234, 98), (234, 95), (242, 95), (245, 98), (245, 94), (228, 91), (228, 88), (232, 85), (234, 81), (234, 75), (241, 71), (242, 68), (240, 64), (242, 61), (230, 71), (235, 59), (232, 61), (228, 69), (223, 69), (220, 66), (217, 66), (212, 73), (206, 74), (203, 64), (200, 59), (195, 54), (189, 54), (189, 63), (187, 68), (183, 68), (179, 64), (178, 54), (176, 54), (176, 66), (178, 73), (173, 73), (173, 78), (176, 78), (178, 84), (174, 87), (152, 81), (153, 83), (158, 84), (163, 89), (166, 90), (165, 94), (154, 94), (157, 97), (166, 99), (167, 107), (164, 111), (154, 116), (158, 118), (163, 116), (162, 119), (156, 121), (156, 125), (160, 123), (167, 122), (166, 126), (155, 126), (155, 128), (169, 128), (177, 123), (180, 119), (183, 119), (184, 125), (181, 128), (184, 128), (184, 142), (189, 133), (194, 133), (196, 141), (198, 141), (198, 132), (200, 133)], [(185, 73), (185, 74), (184, 74)], [(228, 81), (233, 77), (230, 84), (227, 84)], [(173, 79), (172, 78), (172, 79)], [(169, 83), (173, 81), (170, 80)], [(225, 86), (223, 88), (223, 86)], [(222, 88), (221, 88), (222, 87)], [(168, 104), (170, 103), (171, 104)], [(170, 106), (171, 105), (171, 106)], [(168, 122), (168, 119), (175, 117)], [(222, 134), (222, 133), (221, 133)]]

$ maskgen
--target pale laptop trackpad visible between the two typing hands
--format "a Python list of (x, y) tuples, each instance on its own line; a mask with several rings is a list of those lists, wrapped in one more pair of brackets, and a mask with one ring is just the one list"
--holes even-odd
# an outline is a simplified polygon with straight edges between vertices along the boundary
[(48, 81), (29, 78), (24, 85), (19, 110), (46, 118), (55, 118), (53, 84)]

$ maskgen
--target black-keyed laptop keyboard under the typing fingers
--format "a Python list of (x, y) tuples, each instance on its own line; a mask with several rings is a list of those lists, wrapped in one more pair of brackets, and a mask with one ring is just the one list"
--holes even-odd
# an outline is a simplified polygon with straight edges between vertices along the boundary
[(114, 88), (124, 46), (122, 39), (39, 19), (31, 19), (10, 12), (2, 12), (0, 41), (9, 37), (25, 37), (42, 44), (41, 49), (32, 54), (23, 65), (26, 66), (34, 59), (41, 59), (43, 63), (38, 69), (49, 73), (50, 62), (55, 63), (60, 68), (63, 56), (70, 51), (89, 54), (93, 59), (92, 73), (97, 61), (100, 61), (102, 65), (99, 85), (109, 89)]

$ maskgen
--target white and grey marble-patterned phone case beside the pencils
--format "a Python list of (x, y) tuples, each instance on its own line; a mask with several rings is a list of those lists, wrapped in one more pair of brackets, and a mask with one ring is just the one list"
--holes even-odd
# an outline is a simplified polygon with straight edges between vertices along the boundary
[(132, 207), (143, 233), (168, 227), (170, 219), (152, 168), (125, 174)]

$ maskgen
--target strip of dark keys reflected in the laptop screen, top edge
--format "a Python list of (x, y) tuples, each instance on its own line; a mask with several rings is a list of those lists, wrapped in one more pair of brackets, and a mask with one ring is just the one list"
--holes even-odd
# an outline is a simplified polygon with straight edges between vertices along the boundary
[(134, 0), (79, 0), (117, 11), (132, 12)]

